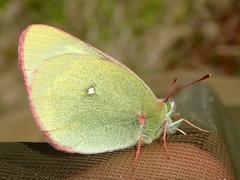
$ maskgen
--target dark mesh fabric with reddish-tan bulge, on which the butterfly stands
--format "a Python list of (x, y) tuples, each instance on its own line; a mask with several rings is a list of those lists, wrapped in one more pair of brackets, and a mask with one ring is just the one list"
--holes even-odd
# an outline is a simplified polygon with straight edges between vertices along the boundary
[[(169, 158), (161, 138), (141, 147), (137, 167), (132, 172), (135, 148), (109, 153), (67, 154), (47, 143), (0, 143), (1, 179), (235, 179), (238, 167), (225, 134), (216, 124), (226, 119), (218, 116), (216, 97), (206, 86), (183, 91), (176, 99), (178, 111), (193, 123), (214, 133), (202, 133), (183, 126), (188, 135), (167, 137)], [(193, 91), (193, 92), (191, 92)], [(187, 94), (186, 94), (187, 93)], [(203, 93), (203, 94), (198, 94)], [(189, 94), (198, 111), (186, 111)], [(185, 96), (185, 98), (182, 98)], [(204, 97), (202, 97), (204, 96)], [(182, 100), (181, 100), (182, 99)], [(181, 111), (182, 110), (182, 111)], [(184, 112), (186, 111), (187, 114)], [(206, 121), (204, 121), (206, 119)], [(192, 121), (191, 121), (192, 122)], [(202, 127), (201, 126), (201, 127)], [(225, 139), (225, 140), (224, 140)], [(229, 153), (230, 152), (230, 153)], [(230, 155), (231, 156), (230, 156)], [(236, 157), (237, 158), (237, 157)]]

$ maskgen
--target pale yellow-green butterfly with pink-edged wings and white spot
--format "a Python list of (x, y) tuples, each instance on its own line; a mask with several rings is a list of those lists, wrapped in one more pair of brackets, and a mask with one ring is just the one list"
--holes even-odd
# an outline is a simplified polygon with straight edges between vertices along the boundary
[(119, 61), (57, 28), (29, 26), (18, 53), (32, 113), (56, 149), (92, 154), (138, 144), (136, 162), (141, 144), (162, 133), (165, 142), (186, 121), (172, 123), (171, 95), (157, 99)]

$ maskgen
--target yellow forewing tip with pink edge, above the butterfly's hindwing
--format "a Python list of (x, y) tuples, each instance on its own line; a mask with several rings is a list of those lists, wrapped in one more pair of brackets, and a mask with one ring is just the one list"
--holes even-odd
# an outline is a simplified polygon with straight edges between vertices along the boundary
[(31, 25), (19, 40), (19, 63), (25, 84), (31, 88), (35, 71), (46, 60), (66, 53), (86, 54), (96, 57), (112, 57), (77, 39), (76, 37), (47, 25)]

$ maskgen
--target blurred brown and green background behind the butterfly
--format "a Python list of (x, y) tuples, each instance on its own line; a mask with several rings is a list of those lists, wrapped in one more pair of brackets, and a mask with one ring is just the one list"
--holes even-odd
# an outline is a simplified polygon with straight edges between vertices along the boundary
[(36, 23), (60, 28), (101, 49), (147, 84), (166, 82), (167, 87), (182, 73), (211, 72), (209, 81), (225, 105), (240, 107), (237, 0), (0, 0), (1, 141), (42, 138), (34, 134), (37, 128), (17, 60), (21, 32)]

